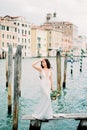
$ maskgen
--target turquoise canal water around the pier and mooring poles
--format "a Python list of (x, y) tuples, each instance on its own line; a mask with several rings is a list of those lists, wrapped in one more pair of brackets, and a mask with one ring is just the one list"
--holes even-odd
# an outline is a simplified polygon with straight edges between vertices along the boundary
[[(32, 68), (32, 62), (37, 58), (22, 60), (21, 97), (19, 99), (18, 130), (29, 130), (29, 120), (22, 120), (23, 115), (33, 113), (40, 97), (39, 73)], [(49, 58), (53, 67), (53, 83), (56, 88), (56, 59)], [(6, 61), (0, 60), (0, 130), (12, 130), (12, 116), (7, 114), (7, 89), (5, 68)], [(67, 63), (66, 89), (61, 96), (52, 101), (54, 113), (84, 113), (87, 112), (87, 59), (83, 59), (83, 71), (79, 71), (80, 63), (73, 63), (73, 75), (70, 73), (71, 63)], [(63, 59), (62, 59), (63, 82)], [(77, 130), (78, 120), (63, 119), (43, 123), (41, 130)]]

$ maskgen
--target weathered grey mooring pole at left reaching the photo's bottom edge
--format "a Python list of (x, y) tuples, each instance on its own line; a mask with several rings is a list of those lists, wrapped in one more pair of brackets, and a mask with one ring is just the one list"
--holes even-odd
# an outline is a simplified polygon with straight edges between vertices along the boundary
[(18, 130), (18, 107), (19, 107), (19, 85), (20, 85), (20, 59), (22, 46), (18, 45), (14, 60), (14, 103), (13, 103), (13, 128)]

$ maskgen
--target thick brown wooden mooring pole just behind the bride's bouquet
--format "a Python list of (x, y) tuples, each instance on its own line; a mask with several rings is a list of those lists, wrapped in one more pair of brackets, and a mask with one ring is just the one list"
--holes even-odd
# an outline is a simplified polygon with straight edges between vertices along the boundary
[(57, 64), (57, 88), (58, 92), (61, 91), (61, 55), (60, 51), (56, 53), (56, 64)]

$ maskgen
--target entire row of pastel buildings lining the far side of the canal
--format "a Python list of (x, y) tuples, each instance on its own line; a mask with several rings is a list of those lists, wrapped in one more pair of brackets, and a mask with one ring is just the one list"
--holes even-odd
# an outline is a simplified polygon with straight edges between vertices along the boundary
[(56, 50), (62, 53), (79, 54), (81, 48), (87, 51), (87, 38), (78, 36), (78, 27), (71, 22), (59, 20), (56, 13), (48, 13), (40, 26), (31, 25), (22, 16), (0, 17), (0, 57), (6, 56), (8, 44), (22, 45), (22, 57), (55, 56)]

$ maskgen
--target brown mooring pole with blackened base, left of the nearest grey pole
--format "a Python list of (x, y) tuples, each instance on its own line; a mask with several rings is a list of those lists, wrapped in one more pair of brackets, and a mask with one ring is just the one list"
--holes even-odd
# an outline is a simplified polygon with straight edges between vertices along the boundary
[(8, 46), (8, 114), (12, 112), (12, 65), (13, 49), (12, 45)]

